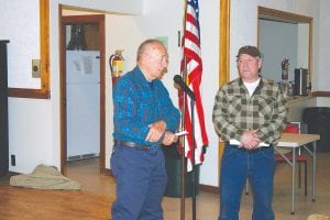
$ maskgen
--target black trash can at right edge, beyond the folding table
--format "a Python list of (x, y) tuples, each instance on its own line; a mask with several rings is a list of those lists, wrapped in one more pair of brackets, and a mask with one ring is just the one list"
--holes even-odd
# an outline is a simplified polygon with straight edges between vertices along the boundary
[(330, 108), (310, 107), (302, 112), (302, 122), (310, 134), (320, 134), (317, 152), (330, 152)]

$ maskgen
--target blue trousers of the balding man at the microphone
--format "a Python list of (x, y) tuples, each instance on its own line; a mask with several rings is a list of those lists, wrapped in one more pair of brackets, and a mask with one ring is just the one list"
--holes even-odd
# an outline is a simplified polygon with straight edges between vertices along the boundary
[(117, 180), (112, 220), (163, 220), (167, 184), (163, 151), (114, 145), (110, 163)]

